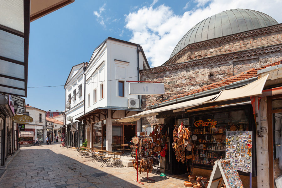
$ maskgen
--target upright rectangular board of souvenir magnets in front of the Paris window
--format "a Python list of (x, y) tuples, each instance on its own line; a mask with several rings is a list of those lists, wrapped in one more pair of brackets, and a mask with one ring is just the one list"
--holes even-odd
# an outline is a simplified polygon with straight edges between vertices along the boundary
[(252, 131), (226, 131), (225, 157), (232, 160), (236, 170), (252, 172), (252, 154)]

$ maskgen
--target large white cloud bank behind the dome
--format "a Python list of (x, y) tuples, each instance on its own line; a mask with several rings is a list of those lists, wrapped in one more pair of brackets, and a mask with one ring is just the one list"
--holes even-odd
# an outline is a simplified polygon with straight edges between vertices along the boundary
[[(154, 1), (155, 2), (155, 1)], [(152, 4), (154, 4), (154, 2)], [(201, 20), (232, 8), (247, 8), (266, 13), (281, 23), (281, 0), (195, 0), (191, 11), (177, 15), (160, 5), (142, 7), (126, 15), (125, 27), (132, 31), (131, 42), (141, 44), (151, 66), (159, 66), (170, 57), (180, 39)], [(208, 4), (206, 7), (203, 5)]]

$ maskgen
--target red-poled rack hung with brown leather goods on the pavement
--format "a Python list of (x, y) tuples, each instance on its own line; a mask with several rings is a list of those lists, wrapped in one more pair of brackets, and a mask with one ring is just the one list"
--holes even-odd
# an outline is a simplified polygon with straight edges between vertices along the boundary
[(137, 175), (137, 180), (133, 181), (144, 185), (144, 183), (138, 181), (138, 175), (139, 177), (142, 177), (145, 176), (146, 173), (147, 180), (155, 181), (149, 179), (149, 172), (151, 172), (153, 168), (153, 159), (150, 157), (152, 155), (152, 149), (150, 149), (153, 142), (152, 137), (149, 137), (148, 135), (138, 136), (132, 138), (132, 142), (133, 146), (131, 148), (133, 150), (131, 156), (136, 158), (133, 160), (133, 168), (136, 169)]

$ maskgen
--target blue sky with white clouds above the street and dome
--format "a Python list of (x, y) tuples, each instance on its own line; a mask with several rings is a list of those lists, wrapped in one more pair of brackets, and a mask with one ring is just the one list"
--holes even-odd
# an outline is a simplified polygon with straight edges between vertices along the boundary
[[(107, 37), (141, 44), (151, 67), (170, 57), (201, 20), (232, 8), (268, 14), (282, 23), (281, 0), (75, 0), (30, 23), (26, 104), (64, 111), (64, 85), (72, 66), (89, 62)], [(56, 87), (42, 87), (56, 86)]]

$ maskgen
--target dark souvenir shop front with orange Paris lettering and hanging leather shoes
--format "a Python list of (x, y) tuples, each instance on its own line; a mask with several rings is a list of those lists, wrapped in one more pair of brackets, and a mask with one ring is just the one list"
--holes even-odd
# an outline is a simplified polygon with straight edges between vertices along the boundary
[[(168, 173), (183, 180), (189, 176), (191, 182), (197, 179), (207, 183), (215, 161), (236, 159), (239, 176), (244, 187), (248, 187), (250, 175), (256, 177), (257, 173), (252, 106), (188, 111), (174, 119), (165, 118), (172, 138)], [(256, 178), (253, 181), (256, 182)]]

